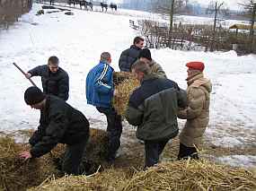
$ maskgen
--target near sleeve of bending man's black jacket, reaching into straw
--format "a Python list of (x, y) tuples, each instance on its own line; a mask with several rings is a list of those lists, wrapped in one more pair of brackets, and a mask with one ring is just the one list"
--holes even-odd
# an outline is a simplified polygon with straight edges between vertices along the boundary
[(67, 128), (66, 117), (62, 113), (55, 113), (50, 117), (49, 126), (46, 127), (46, 134), (31, 148), (32, 157), (40, 157), (50, 152), (59, 143)]

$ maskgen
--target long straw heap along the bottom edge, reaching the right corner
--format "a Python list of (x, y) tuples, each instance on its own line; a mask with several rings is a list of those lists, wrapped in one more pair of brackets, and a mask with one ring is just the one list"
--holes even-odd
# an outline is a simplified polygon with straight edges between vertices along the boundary
[(110, 169), (94, 176), (64, 177), (34, 190), (255, 190), (256, 176), (246, 169), (209, 161), (175, 161), (128, 175)]

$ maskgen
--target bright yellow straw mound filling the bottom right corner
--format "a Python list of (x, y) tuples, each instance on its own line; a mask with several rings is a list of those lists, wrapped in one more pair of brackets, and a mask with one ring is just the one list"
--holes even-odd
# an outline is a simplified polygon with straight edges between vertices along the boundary
[(122, 190), (253, 190), (252, 172), (209, 161), (175, 161), (161, 164), (131, 178)]

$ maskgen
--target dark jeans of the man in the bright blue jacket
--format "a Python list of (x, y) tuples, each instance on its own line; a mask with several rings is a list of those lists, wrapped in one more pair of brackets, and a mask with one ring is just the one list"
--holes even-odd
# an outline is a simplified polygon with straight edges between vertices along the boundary
[(97, 109), (107, 117), (107, 134), (109, 137), (109, 156), (107, 160), (113, 161), (120, 146), (120, 137), (122, 134), (121, 116), (113, 108), (105, 109), (97, 107)]

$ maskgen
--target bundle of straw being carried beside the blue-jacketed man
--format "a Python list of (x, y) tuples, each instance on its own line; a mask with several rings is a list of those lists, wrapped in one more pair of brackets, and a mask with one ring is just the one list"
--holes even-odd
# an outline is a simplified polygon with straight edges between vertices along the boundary
[(126, 72), (114, 73), (113, 79), (116, 91), (113, 106), (118, 114), (124, 117), (128, 106), (129, 96), (139, 86), (139, 82), (133, 74)]

